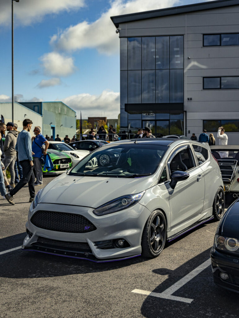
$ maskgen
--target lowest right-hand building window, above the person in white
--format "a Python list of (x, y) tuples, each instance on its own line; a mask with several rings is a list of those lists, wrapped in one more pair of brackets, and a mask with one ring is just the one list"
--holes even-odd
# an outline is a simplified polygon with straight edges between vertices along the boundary
[(203, 129), (207, 129), (208, 132), (216, 133), (218, 127), (224, 127), (225, 133), (227, 132), (239, 132), (239, 120), (204, 120)]

